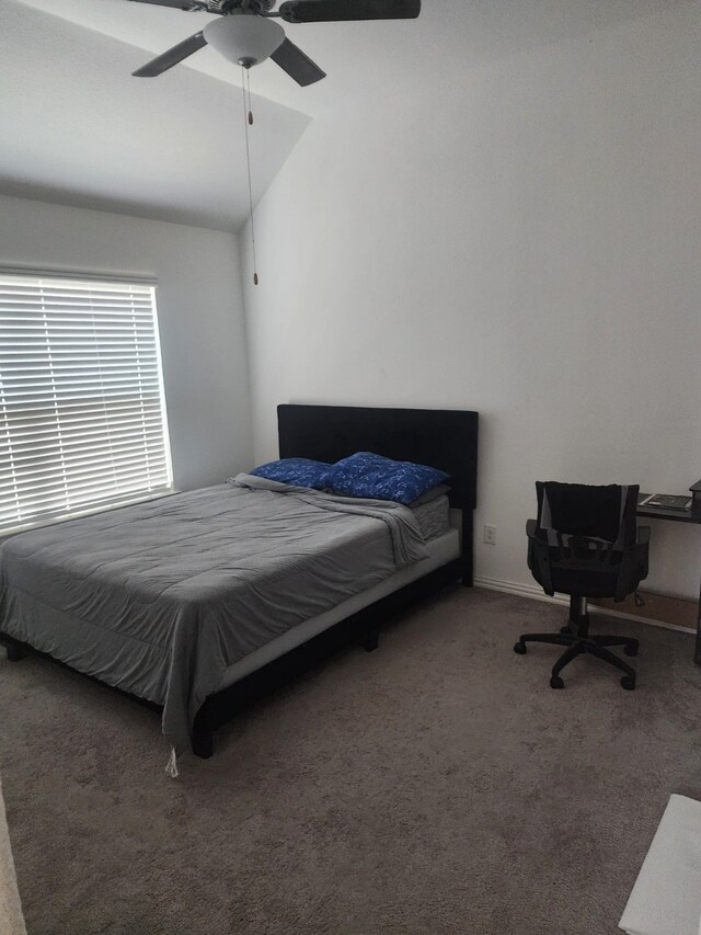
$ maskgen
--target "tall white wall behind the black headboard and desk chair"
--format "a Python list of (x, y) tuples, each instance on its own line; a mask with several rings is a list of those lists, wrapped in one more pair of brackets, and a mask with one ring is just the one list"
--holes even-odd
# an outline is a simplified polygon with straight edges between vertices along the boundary
[[(314, 121), (244, 276), (255, 459), (279, 402), (476, 409), (478, 529), (497, 526), (476, 573), (531, 584), (536, 479), (698, 480), (699, 32), (693, 4), (438, 61), (430, 88)], [(701, 528), (653, 535), (648, 586), (698, 595)]]

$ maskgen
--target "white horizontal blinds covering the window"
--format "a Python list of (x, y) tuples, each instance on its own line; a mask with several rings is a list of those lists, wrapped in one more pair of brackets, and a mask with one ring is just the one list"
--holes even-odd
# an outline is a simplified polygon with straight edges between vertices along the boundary
[(171, 486), (153, 286), (0, 272), (0, 531)]

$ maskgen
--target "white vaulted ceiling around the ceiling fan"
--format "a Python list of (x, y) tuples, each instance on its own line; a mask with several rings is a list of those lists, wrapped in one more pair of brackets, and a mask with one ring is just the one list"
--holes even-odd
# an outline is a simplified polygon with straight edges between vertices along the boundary
[[(250, 72), (254, 201), (310, 119), (696, 0), (424, 0), (409, 21), (285, 23), (327, 72), (308, 88)], [(0, 192), (237, 230), (248, 214), (241, 70), (204, 48), (154, 79), (131, 71), (207, 13), (130, 0), (2, 0)]]

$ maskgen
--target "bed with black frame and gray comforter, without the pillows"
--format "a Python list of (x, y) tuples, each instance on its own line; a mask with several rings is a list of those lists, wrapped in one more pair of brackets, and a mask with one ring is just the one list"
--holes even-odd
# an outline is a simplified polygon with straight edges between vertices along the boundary
[(10, 659), (38, 651), (158, 708), (174, 763), (191, 746), (210, 756), (238, 710), (344, 641), (375, 649), (389, 615), (472, 583), (475, 412), (287, 404), (278, 436), (280, 458), (365, 451), (444, 470), (458, 528), (426, 541), (429, 505), (240, 475), (28, 531), (0, 560)]

